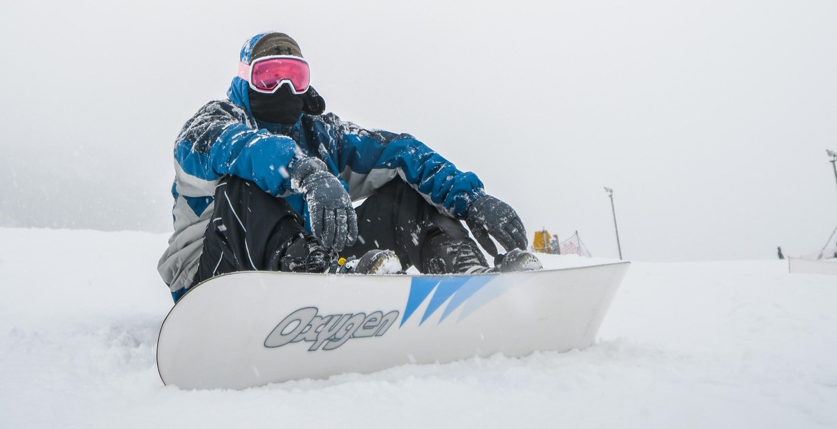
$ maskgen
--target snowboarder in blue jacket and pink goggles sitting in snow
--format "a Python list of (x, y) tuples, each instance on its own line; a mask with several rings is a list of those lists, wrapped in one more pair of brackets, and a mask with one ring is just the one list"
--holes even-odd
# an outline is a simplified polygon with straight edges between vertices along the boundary
[[(473, 172), (413, 135), (324, 115), (309, 75), (293, 38), (256, 35), (241, 49), (229, 100), (210, 101), (183, 125), (174, 233), (158, 266), (176, 302), (203, 280), (245, 270), (382, 273), (392, 261), (432, 274), (541, 268), (523, 250), (520, 217)], [(353, 263), (336, 268), (346, 259)]]

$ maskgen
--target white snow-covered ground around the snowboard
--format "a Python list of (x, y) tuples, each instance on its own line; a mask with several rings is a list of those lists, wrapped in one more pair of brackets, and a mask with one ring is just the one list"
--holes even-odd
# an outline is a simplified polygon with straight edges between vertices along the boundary
[(155, 366), (167, 234), (0, 243), (3, 428), (837, 426), (837, 277), (784, 261), (634, 263), (586, 350), (181, 391)]

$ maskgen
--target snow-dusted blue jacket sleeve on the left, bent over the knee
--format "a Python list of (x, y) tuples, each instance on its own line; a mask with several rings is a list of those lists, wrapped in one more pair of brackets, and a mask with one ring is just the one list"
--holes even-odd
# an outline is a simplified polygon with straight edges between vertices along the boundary
[(234, 175), (254, 181), (275, 197), (290, 194), (294, 140), (258, 130), (238, 105), (216, 101), (183, 125), (175, 159), (183, 171), (205, 181)]

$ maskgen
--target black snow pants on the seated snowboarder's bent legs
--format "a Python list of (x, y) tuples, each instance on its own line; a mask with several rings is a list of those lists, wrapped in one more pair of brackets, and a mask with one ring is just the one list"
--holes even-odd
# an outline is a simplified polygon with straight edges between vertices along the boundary
[[(344, 258), (388, 249), (398, 255), (403, 269), (415, 266), (426, 273), (433, 243), (468, 237), (460, 221), (444, 216), (398, 177), (367, 197), (355, 212), (357, 242), (343, 249)], [(271, 196), (252, 181), (228, 176), (215, 190), (213, 217), (193, 284), (223, 273), (277, 271), (285, 248), (305, 235), (309, 234), (302, 217), (285, 199)]]

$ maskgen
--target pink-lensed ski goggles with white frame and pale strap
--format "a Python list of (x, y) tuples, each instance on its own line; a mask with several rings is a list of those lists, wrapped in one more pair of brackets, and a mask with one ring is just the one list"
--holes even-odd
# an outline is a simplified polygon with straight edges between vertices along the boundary
[(239, 62), (239, 78), (244, 79), (254, 91), (273, 94), (282, 84), (289, 84), (294, 94), (303, 94), (311, 84), (311, 69), (300, 57), (270, 55), (254, 59), (247, 64)]

